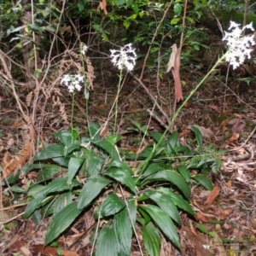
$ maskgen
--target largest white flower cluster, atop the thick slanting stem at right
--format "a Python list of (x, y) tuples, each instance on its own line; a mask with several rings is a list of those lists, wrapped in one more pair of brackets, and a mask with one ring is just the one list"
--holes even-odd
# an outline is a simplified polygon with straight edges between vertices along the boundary
[(230, 62), (230, 65), (234, 69), (239, 67), (245, 60), (251, 58), (251, 52), (253, 51), (252, 46), (255, 44), (254, 35), (241, 37), (242, 32), (245, 29), (254, 31), (253, 23), (244, 26), (242, 29), (239, 24), (231, 21), (229, 30), (231, 32), (225, 32), (223, 41), (226, 41), (228, 45), (228, 52), (225, 55), (226, 61)]

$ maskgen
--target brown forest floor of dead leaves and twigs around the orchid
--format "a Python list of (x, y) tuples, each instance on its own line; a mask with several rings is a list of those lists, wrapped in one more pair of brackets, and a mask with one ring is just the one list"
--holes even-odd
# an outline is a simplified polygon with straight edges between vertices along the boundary
[[(181, 78), (183, 96), (189, 96), (191, 89), (203, 76), (199, 70), (183, 71)], [(100, 79), (101, 78), (101, 79)], [(254, 80), (254, 81), (253, 81)], [(167, 118), (172, 117), (173, 81), (164, 75), (160, 84), (156, 83), (153, 73), (145, 72), (143, 84), (152, 95), (160, 99), (160, 108)], [(90, 121), (102, 125), (108, 118), (108, 113), (116, 96), (118, 77), (115, 71), (98, 75), (94, 90), (90, 91), (89, 115)], [(0, 92), (1, 122), (0, 146), (1, 158), (9, 151), (16, 155), (22, 145), (24, 127), (19, 115), (15, 112), (15, 102), (9, 100), (8, 92)], [(71, 97), (65, 99), (65, 106), (70, 108)], [(178, 108), (180, 102), (177, 103)], [(119, 95), (118, 133), (122, 134), (123, 148), (137, 147), (139, 138), (136, 134), (127, 132), (132, 127), (131, 120), (141, 125), (148, 125), (150, 130), (164, 131), (166, 119), (160, 109), (154, 109), (160, 124), (154, 116), (147, 112), (152, 110), (154, 102), (147, 91), (137, 83), (131, 75), (125, 79)], [(54, 142), (52, 133), (67, 128), (58, 118), (44, 125), (44, 140)], [(86, 133), (83, 93), (76, 95), (74, 122), (79, 130)], [(108, 131), (113, 125), (113, 119), (108, 122)], [(256, 82), (240, 79), (239, 76), (229, 78), (214, 77), (202, 84), (201, 88), (191, 97), (185, 108), (179, 113), (172, 127), (178, 131), (180, 139), (193, 141), (190, 127), (197, 125), (201, 131), (204, 147), (210, 144), (216, 149), (225, 149), (219, 155), (223, 167), (217, 174), (209, 173), (214, 189), (207, 191), (201, 186), (192, 187), (191, 205), (196, 212), (196, 218), (181, 214), (183, 225), (178, 233), (181, 238), (182, 250), (178, 252), (172, 244), (163, 237), (161, 256), (167, 255), (254, 255), (256, 252)], [(32, 178), (32, 177), (31, 177)], [(22, 183), (19, 181), (16, 186)], [(15, 198), (15, 202), (23, 203), (14, 207), (14, 201), (9, 204), (11, 196), (7, 195), (8, 187), (2, 188), (3, 210), (0, 212), (0, 255), (59, 255), (57, 247), (43, 247), (44, 237), (49, 218), (36, 226), (32, 219), (24, 220), (22, 213), (26, 200)], [(92, 212), (73, 224), (58, 240), (62, 255), (90, 255), (90, 236), (92, 229), (84, 230), (84, 222), (92, 223)], [(190, 226), (190, 228), (189, 228)], [(202, 232), (205, 229), (205, 232)], [(201, 247), (201, 245), (205, 247)], [(206, 253), (207, 252), (207, 253)], [(131, 255), (141, 255), (137, 247), (133, 247)], [(103, 256), (103, 255), (102, 255)]]

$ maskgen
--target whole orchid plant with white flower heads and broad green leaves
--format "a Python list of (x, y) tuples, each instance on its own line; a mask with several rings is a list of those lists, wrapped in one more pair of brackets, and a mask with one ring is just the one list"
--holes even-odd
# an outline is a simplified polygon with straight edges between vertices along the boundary
[[(47, 207), (45, 211), (51, 207), (54, 209), (54, 217), (44, 241), (45, 246), (60, 236), (64, 230), (70, 228), (82, 212), (93, 209), (96, 229), (94, 236), (91, 236), (94, 241), (91, 242), (90, 255), (95, 253), (96, 256), (107, 254), (128, 256), (131, 254), (134, 236), (142, 255), (144, 250), (153, 256), (160, 255), (161, 237), (163, 236), (172, 241), (177, 248), (180, 247), (177, 234), (177, 225), (181, 223), (179, 211), (194, 214), (189, 205), (190, 180), (194, 179), (208, 190), (212, 189), (212, 183), (203, 175), (199, 175), (198, 180), (195, 178), (196, 175), (190, 176), (188, 164), (190, 159), (184, 163), (179, 159), (180, 152), (182, 156), (191, 156), (191, 159), (195, 152), (189, 151), (188, 153), (187, 150), (190, 149), (180, 145), (177, 131), (174, 131), (168, 138), (166, 138), (166, 133), (184, 104), (221, 62), (226, 60), (233, 68), (236, 68), (251, 57), (251, 47), (255, 41), (253, 36), (242, 37), (245, 29), (254, 30), (252, 24), (241, 29), (238, 24), (231, 22), (230, 32), (225, 32), (223, 38), (227, 42), (227, 51), (218, 59), (210, 72), (201, 79), (201, 82), (191, 90), (189, 96), (172, 116), (166, 131), (163, 134), (158, 131), (154, 133), (148, 131), (147, 136), (154, 138), (155, 143), (150, 143), (142, 154), (130, 154), (128, 151), (125, 151), (123, 155), (119, 154), (116, 140), (110, 140), (110, 136), (106, 139), (102, 138), (99, 134), (100, 125), (89, 124), (89, 122), (90, 137), (73, 138), (73, 133), (70, 131), (55, 133), (60, 143), (44, 148), (34, 160), (51, 159), (53, 162), (56, 160), (56, 172), (60, 172), (60, 166), (63, 166), (65, 171), (67, 170), (67, 175), (55, 178), (46, 185), (40, 184), (39, 192), (36, 189), (29, 190), (32, 201), (26, 207), (25, 212), (25, 218), (28, 218), (39, 208)], [(84, 44), (81, 46), (80, 53), (85, 55), (86, 50), (87, 46)], [(120, 71), (114, 103), (116, 108), (113, 135), (115, 136), (122, 72), (124, 69), (127, 71), (134, 69), (137, 54), (131, 44), (126, 44), (119, 50), (111, 49), (110, 51), (111, 62)], [(76, 90), (82, 89), (83, 83), (82, 73), (66, 74), (61, 79), (61, 84), (66, 85), (73, 96)], [(139, 131), (145, 132), (143, 129)], [(201, 142), (201, 134), (197, 134), (196, 137), (198, 137), (197, 141)], [(87, 147), (87, 145), (90, 146)], [(134, 161), (132, 167), (126, 159)], [(175, 159), (178, 159), (177, 165), (173, 165)], [(183, 165), (180, 165), (181, 162)], [(52, 166), (54, 165), (51, 165), (51, 168)], [(169, 166), (171, 166), (170, 169), (168, 169)], [(172, 166), (175, 167), (172, 168)], [(40, 163), (39, 168), (44, 172), (44, 168), (47, 169), (49, 166), (47, 164), (41, 166)], [(49, 169), (47, 171), (49, 172)], [(79, 172), (81, 175), (78, 175)], [(202, 178), (203, 182), (200, 182)], [(34, 194), (32, 194), (33, 191)], [(49, 196), (55, 196), (55, 198), (50, 199)], [(49, 201), (49, 207), (45, 206), (46, 198)], [(143, 238), (143, 247), (141, 247), (142, 240), (137, 234)]]

